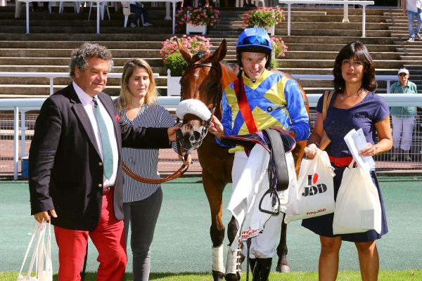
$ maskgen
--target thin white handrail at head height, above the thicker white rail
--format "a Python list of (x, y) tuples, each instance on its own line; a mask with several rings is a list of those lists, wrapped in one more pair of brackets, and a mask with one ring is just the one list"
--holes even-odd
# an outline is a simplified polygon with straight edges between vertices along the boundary
[[(310, 80), (333, 80), (332, 74), (293, 74), (295, 79)], [(39, 77), (50, 79), (50, 95), (54, 93), (54, 78), (69, 78), (68, 72), (0, 72), (0, 77)], [(108, 78), (120, 78), (122, 73), (108, 73)], [(154, 78), (159, 78), (160, 74), (154, 73)], [(387, 81), (387, 93), (390, 92), (391, 81), (396, 81), (396, 75), (376, 75), (378, 81)]]

